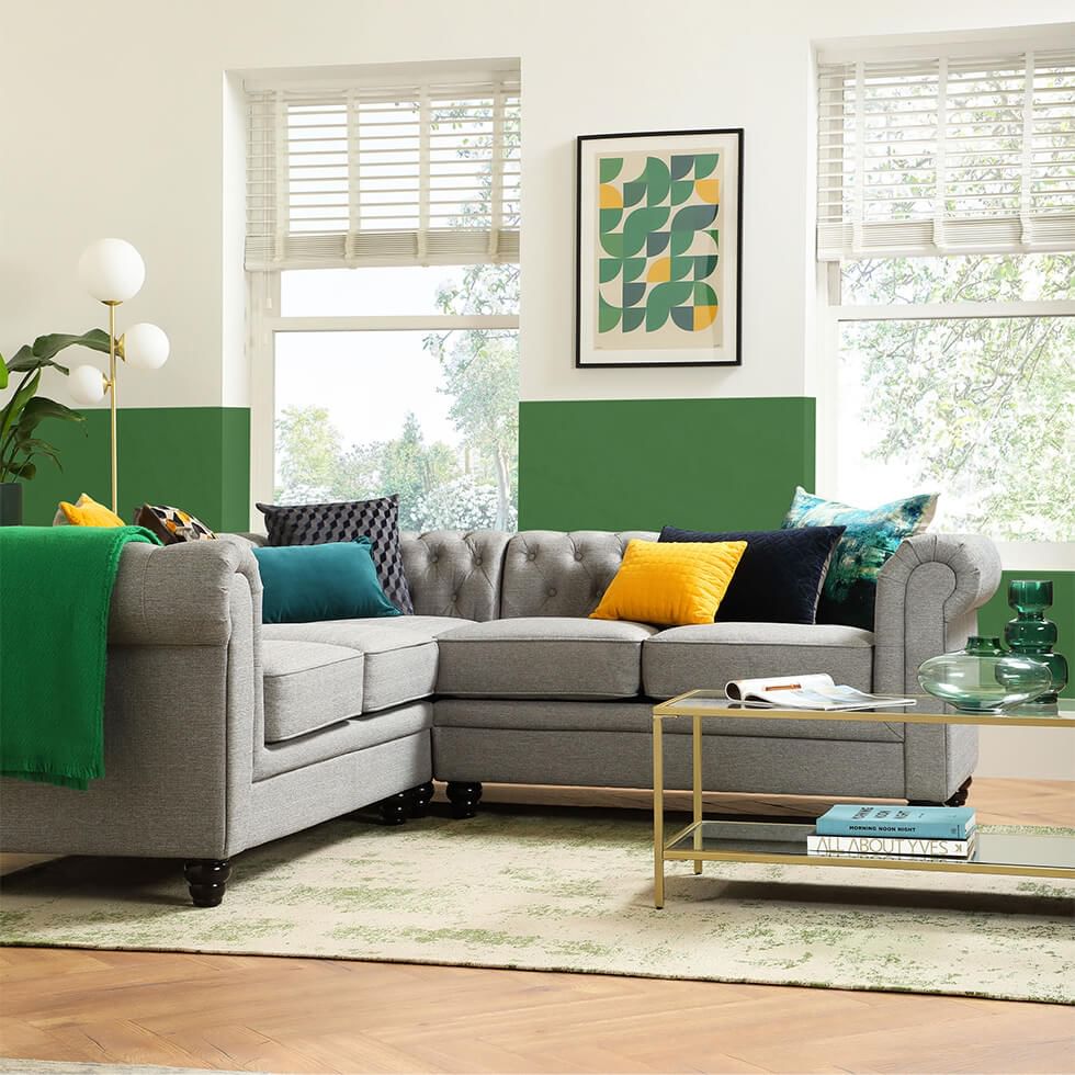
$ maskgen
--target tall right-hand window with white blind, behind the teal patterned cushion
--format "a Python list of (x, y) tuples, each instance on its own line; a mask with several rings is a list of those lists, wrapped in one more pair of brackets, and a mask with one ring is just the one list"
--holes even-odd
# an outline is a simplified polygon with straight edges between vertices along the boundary
[(1075, 53), (819, 57), (817, 212), (826, 491), (1070, 555)]

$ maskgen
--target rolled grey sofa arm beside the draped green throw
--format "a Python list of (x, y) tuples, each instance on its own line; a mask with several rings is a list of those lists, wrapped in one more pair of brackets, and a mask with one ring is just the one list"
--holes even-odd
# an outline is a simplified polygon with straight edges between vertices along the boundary
[(231, 634), (231, 582), (244, 575), (260, 608), (261, 576), (235, 538), (179, 545), (131, 542), (112, 590), (109, 642), (129, 646), (220, 646)]

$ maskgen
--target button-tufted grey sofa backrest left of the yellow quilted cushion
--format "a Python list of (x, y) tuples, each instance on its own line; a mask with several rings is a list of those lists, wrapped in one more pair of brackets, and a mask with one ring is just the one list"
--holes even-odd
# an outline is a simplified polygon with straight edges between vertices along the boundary
[(479, 621), (588, 615), (627, 542), (657, 538), (641, 530), (434, 530), (400, 536), (415, 612)]

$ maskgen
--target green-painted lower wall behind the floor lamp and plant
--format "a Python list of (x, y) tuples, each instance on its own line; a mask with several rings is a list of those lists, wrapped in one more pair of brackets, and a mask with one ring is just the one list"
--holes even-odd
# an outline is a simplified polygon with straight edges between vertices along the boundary
[[(27, 523), (47, 524), (60, 500), (88, 493), (110, 503), (109, 412), (87, 410), (79, 425), (48, 422), (42, 435), (60, 450), (23, 493)], [(148, 501), (193, 512), (214, 530), (247, 530), (250, 411), (242, 407), (127, 407), (118, 414), (120, 514)]]

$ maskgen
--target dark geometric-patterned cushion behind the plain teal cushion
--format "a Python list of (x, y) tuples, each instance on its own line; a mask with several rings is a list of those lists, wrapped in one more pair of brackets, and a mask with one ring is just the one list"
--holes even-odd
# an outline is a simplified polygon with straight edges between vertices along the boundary
[(270, 545), (324, 545), (369, 538), (388, 600), (407, 615), (415, 611), (399, 552), (398, 496), (341, 503), (259, 503), (258, 510), (265, 517)]

